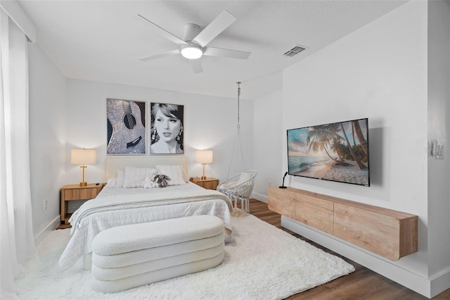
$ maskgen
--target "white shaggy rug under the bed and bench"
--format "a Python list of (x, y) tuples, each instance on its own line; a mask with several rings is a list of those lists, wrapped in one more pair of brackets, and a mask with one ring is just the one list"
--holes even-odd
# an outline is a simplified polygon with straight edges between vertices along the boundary
[(59, 268), (70, 230), (54, 230), (15, 288), (20, 299), (284, 299), (354, 271), (341, 258), (254, 215), (232, 220), (234, 241), (225, 245), (221, 265), (113, 294), (91, 289), (91, 271), (83, 270), (82, 258), (68, 270)]

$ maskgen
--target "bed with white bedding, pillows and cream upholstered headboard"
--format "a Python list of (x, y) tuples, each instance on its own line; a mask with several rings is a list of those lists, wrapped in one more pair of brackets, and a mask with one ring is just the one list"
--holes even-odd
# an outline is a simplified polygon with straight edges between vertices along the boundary
[[(60, 267), (69, 268), (80, 257), (85, 256), (84, 268), (89, 268), (89, 254), (94, 237), (103, 230), (122, 225), (189, 215), (216, 215), (224, 221), (226, 242), (231, 240), (233, 227), (230, 199), (221, 192), (203, 189), (188, 182), (186, 173), (175, 174), (173, 170), (180, 170), (176, 168), (179, 166), (187, 170), (187, 160), (184, 156), (107, 158), (105, 179), (108, 185), (103, 187), (96, 199), (86, 201), (70, 217), (72, 237), (60, 256)], [(135, 182), (129, 180), (129, 174), (136, 176), (133, 172), (143, 172), (143, 168), (147, 168), (147, 171), (157, 169), (162, 174), (169, 173), (172, 179), (175, 179), (169, 180), (168, 182), (172, 183), (164, 188), (148, 187), (148, 178), (144, 182), (147, 188), (139, 184), (134, 187)], [(118, 184), (118, 174), (122, 173), (125, 180)], [(143, 179), (142, 175), (140, 178)], [(177, 184), (177, 180), (181, 184)]]

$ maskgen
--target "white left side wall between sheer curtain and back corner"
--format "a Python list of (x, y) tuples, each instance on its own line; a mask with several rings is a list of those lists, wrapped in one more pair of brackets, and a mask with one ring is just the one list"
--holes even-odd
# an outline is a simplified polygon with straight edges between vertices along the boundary
[(33, 233), (39, 242), (43, 230), (59, 224), (59, 190), (66, 161), (66, 81), (37, 44), (28, 44), (28, 54)]

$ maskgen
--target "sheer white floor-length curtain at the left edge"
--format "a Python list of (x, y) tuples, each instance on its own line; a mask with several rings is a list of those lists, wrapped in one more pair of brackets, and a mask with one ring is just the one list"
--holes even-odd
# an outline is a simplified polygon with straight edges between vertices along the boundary
[(36, 253), (30, 196), (27, 38), (0, 8), (1, 299)]

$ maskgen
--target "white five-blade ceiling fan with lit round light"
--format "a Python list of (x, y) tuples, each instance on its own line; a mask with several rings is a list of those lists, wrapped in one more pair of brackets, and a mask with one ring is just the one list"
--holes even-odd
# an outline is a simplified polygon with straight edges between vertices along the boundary
[(200, 27), (196, 24), (189, 23), (184, 25), (184, 33), (182, 39), (176, 37), (175, 35), (172, 35), (172, 33), (156, 25), (147, 18), (144, 18), (142, 15), (139, 16), (144, 20), (147, 20), (152, 25), (155, 32), (158, 32), (160, 35), (162, 35), (162, 37), (165, 37), (166, 39), (169, 39), (169, 41), (172, 41), (175, 44), (179, 45), (179, 49), (167, 51), (162, 54), (139, 58), (139, 61), (151, 61), (153, 59), (162, 58), (165, 56), (181, 54), (181, 56), (183, 56), (184, 58), (188, 58), (188, 60), (191, 61), (193, 73), (196, 74), (203, 72), (202, 63), (200, 59), (198, 59), (203, 55), (239, 59), (247, 59), (248, 56), (250, 56), (250, 52), (246, 51), (213, 48), (207, 46), (207, 44), (209, 44), (212, 39), (217, 37), (217, 35), (226, 30), (229, 25), (236, 21), (236, 17), (228, 11), (223, 11), (201, 32)]

